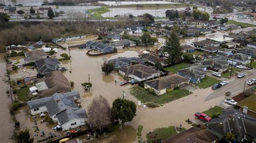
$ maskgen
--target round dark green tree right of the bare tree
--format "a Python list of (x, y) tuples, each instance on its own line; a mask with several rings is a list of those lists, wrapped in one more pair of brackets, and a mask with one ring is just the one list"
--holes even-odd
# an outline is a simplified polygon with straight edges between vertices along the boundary
[(132, 121), (136, 116), (136, 104), (132, 101), (117, 98), (112, 103), (113, 118), (122, 120), (122, 123)]

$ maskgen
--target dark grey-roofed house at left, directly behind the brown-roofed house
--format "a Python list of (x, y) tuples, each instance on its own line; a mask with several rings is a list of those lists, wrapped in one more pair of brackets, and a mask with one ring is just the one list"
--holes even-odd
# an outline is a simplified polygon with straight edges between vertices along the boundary
[(35, 64), (37, 66), (37, 69), (39, 73), (48, 73), (51, 71), (56, 71), (58, 69), (62, 69), (63, 66), (61, 66), (60, 62), (56, 58), (47, 58), (47, 59), (41, 59), (35, 61)]

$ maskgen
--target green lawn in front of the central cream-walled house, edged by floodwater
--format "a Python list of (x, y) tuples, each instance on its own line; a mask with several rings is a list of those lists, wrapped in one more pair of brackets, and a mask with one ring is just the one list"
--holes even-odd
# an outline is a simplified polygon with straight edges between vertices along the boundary
[(150, 94), (149, 91), (147, 91), (145, 88), (142, 88), (139, 86), (130, 88), (130, 93), (142, 103), (151, 102), (158, 105), (169, 103), (171, 101), (174, 101), (179, 98), (192, 94), (192, 92), (186, 89), (176, 89), (166, 94), (156, 96), (156, 95)]

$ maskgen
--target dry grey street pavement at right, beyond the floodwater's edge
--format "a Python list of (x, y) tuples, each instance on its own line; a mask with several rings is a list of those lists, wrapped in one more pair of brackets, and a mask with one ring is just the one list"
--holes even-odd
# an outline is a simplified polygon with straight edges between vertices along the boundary
[(255, 78), (255, 77), (256, 77), (256, 69), (250, 70), (243, 78), (235, 77), (235, 80), (231, 81), (224, 87), (221, 87), (221, 88), (213, 91), (210, 95), (207, 96), (205, 101), (209, 101), (211, 99), (214, 99), (214, 98), (217, 98), (220, 96), (224, 97), (225, 92), (227, 92), (227, 91), (231, 92), (231, 96), (237, 95), (244, 90), (244, 85), (245, 85), (245, 90), (252, 88), (253, 86), (245, 84), (245, 82), (250, 80), (251, 78)]

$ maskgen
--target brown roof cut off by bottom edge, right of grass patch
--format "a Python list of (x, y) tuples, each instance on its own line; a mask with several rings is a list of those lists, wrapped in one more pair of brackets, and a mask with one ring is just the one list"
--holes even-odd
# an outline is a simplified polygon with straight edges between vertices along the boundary
[(199, 127), (191, 127), (190, 129), (183, 131), (174, 135), (173, 137), (164, 140), (164, 143), (167, 142), (193, 142), (193, 143), (204, 143), (212, 142), (217, 138), (213, 134), (208, 132), (206, 129)]

